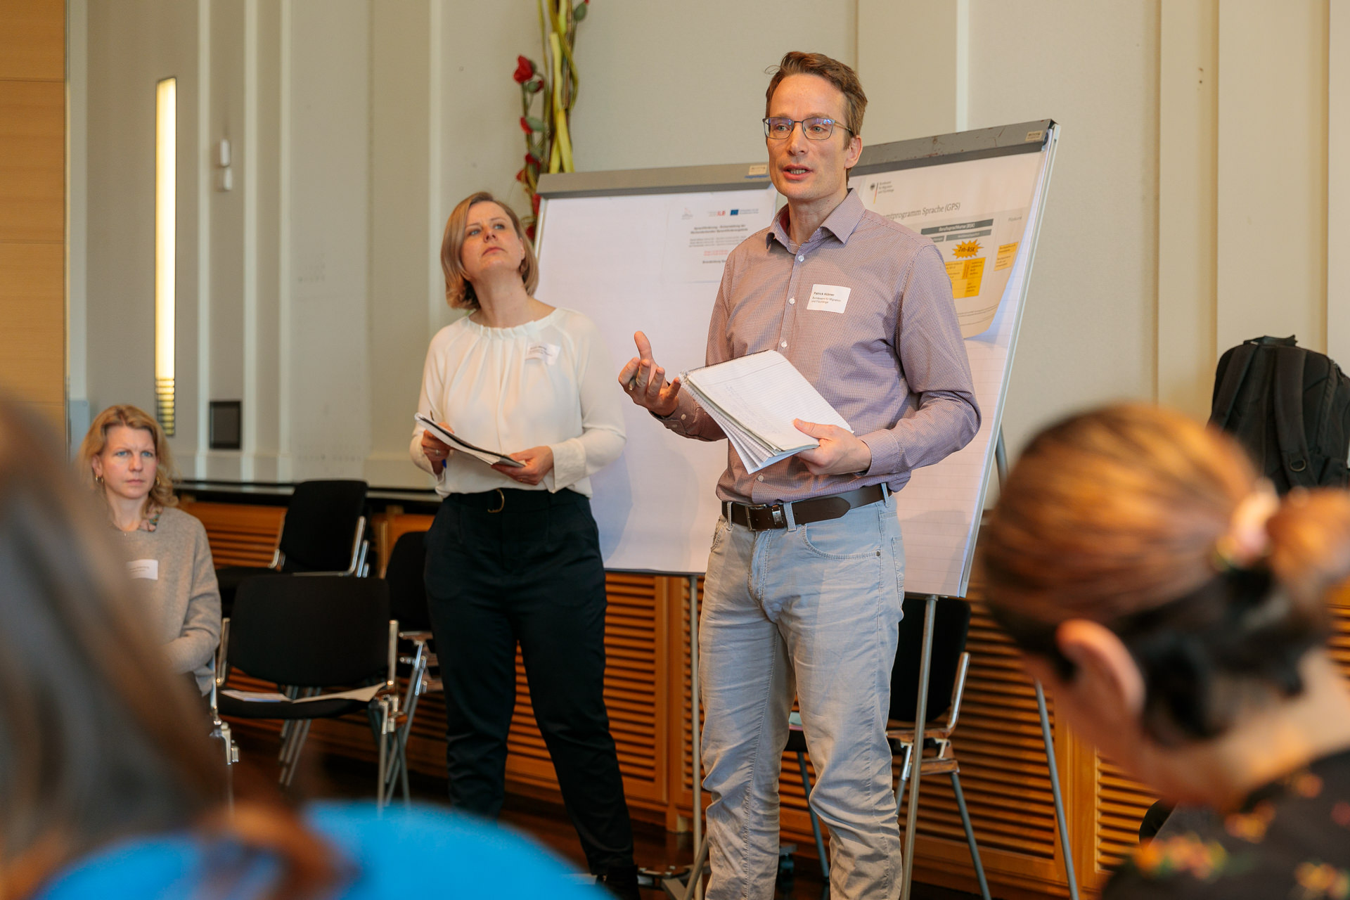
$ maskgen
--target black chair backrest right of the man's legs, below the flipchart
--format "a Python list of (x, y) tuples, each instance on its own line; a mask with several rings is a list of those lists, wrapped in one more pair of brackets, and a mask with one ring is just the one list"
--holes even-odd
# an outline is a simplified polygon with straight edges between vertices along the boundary
[[(891, 669), (891, 718), (900, 722), (913, 722), (918, 712), (926, 606), (925, 598), (906, 599), (905, 618), (900, 619), (900, 640), (895, 649), (895, 667)], [(933, 661), (923, 716), (926, 722), (936, 722), (952, 706), (952, 685), (956, 683), (956, 671), (961, 653), (965, 652), (965, 636), (969, 630), (971, 604), (940, 596), (934, 607)]]

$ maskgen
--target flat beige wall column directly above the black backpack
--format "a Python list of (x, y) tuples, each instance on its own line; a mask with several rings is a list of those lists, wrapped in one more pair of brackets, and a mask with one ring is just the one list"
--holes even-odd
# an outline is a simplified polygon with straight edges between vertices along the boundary
[(1327, 343), (1327, 0), (1219, 7), (1216, 349)]

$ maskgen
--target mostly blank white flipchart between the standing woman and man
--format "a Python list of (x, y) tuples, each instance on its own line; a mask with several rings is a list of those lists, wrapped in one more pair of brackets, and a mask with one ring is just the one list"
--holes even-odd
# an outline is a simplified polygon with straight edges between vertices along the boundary
[[(688, 242), (679, 239), (687, 239), (698, 223), (716, 227), (718, 220), (732, 219), (744, 223), (741, 229), (749, 235), (774, 216), (776, 192), (767, 184), (764, 166), (732, 169), (742, 181), (716, 190), (545, 194), (536, 239), (540, 279), (535, 296), (595, 322), (612, 356), (616, 391), (618, 368), (636, 354), (636, 331), (651, 339), (667, 378), (703, 364), (722, 266), (702, 264), (702, 271), (691, 271), (690, 258), (676, 252), (690, 250)], [(744, 181), (752, 170), (759, 174)], [(728, 177), (725, 171), (710, 174), (724, 181)], [(579, 175), (566, 178), (574, 185)], [(702, 572), (713, 525), (721, 515), (714, 487), (726, 468), (726, 441), (679, 437), (626, 397), (622, 402), (624, 455), (591, 476), (591, 509), (605, 567)]]

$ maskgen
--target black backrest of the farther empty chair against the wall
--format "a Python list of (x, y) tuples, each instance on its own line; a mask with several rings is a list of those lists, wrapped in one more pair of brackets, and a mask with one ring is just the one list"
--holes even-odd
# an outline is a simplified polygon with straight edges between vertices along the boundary
[(281, 528), (284, 572), (343, 572), (351, 565), (356, 522), (366, 510), (366, 482), (300, 482)]

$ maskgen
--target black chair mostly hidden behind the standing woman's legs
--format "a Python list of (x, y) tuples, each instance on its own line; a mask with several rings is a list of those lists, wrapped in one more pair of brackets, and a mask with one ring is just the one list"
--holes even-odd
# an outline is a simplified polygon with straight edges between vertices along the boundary
[(431, 648), (431, 615), (427, 611), (427, 532), (408, 532), (394, 542), (385, 567), (385, 583), (394, 618), (398, 619), (398, 675), (408, 679), (397, 738), (398, 753), (385, 776), (385, 791), (393, 796), (396, 780), (402, 787), (404, 801), (409, 800), (406, 758), (408, 735), (417, 715), (417, 699), (423, 694), (441, 691), (436, 654)]

